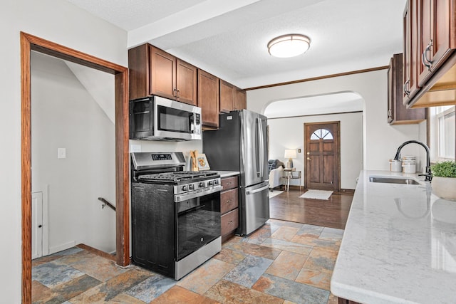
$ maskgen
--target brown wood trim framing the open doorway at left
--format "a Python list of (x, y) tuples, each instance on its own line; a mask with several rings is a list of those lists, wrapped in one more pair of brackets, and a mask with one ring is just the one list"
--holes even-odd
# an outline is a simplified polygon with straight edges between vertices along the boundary
[(128, 68), (21, 32), (22, 303), (31, 303), (31, 66), (38, 51), (115, 75), (116, 261), (130, 263), (128, 167)]

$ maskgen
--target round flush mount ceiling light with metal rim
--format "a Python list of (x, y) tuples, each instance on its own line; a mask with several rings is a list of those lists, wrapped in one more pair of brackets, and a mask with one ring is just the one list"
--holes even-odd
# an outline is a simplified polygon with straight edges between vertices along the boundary
[(311, 39), (301, 34), (279, 36), (268, 43), (268, 51), (274, 57), (287, 58), (306, 53), (311, 46)]

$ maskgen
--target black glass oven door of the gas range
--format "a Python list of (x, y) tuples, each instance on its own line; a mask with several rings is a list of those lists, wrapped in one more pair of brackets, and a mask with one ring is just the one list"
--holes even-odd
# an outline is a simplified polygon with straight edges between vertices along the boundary
[(179, 261), (220, 236), (220, 192), (179, 201), (175, 206)]

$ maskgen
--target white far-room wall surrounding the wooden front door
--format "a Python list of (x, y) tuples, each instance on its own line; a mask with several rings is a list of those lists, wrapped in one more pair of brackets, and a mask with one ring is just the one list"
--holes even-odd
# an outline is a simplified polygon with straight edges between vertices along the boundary
[[(301, 185), (304, 185), (305, 147), (304, 123), (340, 121), (341, 135), (341, 188), (355, 189), (356, 177), (363, 169), (363, 115), (361, 112), (288, 117), (268, 120), (269, 159), (284, 159), (285, 149), (301, 149), (298, 158), (293, 159), (296, 170), (301, 171)], [(298, 179), (290, 184), (299, 185)]]

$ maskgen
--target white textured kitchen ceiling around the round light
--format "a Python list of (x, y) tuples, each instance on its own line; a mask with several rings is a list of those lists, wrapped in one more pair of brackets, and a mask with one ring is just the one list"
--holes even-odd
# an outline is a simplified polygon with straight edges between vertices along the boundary
[[(240, 88), (388, 65), (402, 51), (406, 0), (66, 0)], [(311, 38), (296, 58), (269, 56), (285, 33)]]

